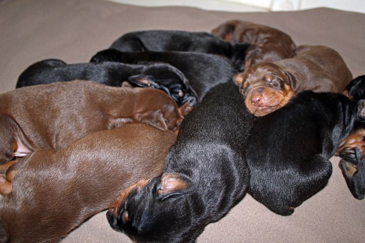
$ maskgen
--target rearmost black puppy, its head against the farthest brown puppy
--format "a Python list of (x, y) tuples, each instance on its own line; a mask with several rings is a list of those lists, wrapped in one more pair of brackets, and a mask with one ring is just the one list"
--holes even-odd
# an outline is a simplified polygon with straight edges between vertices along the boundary
[(129, 32), (115, 40), (110, 49), (121, 52), (180, 51), (220, 54), (244, 68), (248, 43), (231, 43), (206, 32), (150, 30)]

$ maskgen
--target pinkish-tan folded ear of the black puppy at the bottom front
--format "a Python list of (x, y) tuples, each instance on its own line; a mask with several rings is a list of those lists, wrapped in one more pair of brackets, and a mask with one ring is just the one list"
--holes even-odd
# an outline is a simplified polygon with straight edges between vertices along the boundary
[(181, 173), (164, 173), (157, 186), (157, 196), (164, 200), (173, 195), (187, 194), (193, 189), (190, 178)]

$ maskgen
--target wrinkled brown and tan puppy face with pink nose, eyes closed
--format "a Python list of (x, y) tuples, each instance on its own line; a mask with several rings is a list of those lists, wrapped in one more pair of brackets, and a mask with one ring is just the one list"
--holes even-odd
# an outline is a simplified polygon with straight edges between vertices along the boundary
[(296, 79), (274, 63), (260, 63), (234, 76), (248, 111), (264, 116), (281, 108), (295, 95)]

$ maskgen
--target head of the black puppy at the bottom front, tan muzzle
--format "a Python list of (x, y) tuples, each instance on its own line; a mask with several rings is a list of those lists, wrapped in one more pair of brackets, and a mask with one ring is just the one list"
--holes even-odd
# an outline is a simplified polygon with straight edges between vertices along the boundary
[[(194, 233), (189, 197), (194, 186), (184, 174), (164, 173), (139, 182), (110, 204), (107, 218), (134, 242), (182, 242)], [(186, 238), (188, 237), (188, 238)]]

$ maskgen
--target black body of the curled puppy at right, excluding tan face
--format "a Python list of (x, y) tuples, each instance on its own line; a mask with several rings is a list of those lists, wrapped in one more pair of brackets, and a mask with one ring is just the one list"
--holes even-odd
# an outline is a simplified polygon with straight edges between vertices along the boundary
[(340, 142), (365, 119), (365, 101), (303, 91), (256, 120), (247, 149), (249, 193), (275, 213), (292, 214), (327, 183)]

